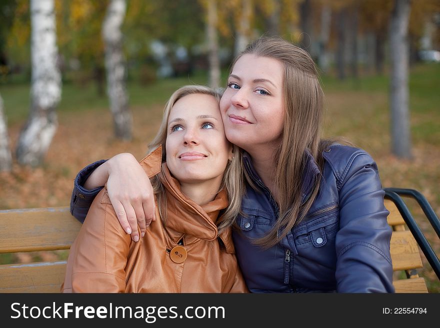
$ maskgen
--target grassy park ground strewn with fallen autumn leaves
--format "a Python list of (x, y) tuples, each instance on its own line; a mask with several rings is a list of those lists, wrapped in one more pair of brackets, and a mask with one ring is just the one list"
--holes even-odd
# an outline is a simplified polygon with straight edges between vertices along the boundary
[[(94, 84), (79, 86), (65, 82), (62, 100), (57, 106), (59, 126), (46, 163), (34, 170), (14, 164), (10, 174), (0, 174), (0, 209), (66, 206), (76, 172), (88, 163), (119, 152), (143, 157), (146, 142), (156, 132), (164, 101), (171, 92), (184, 84), (205, 84), (206, 80), (206, 75), (198, 72), (189, 77), (157, 80), (151, 85), (130, 81), (127, 89), (133, 114), (133, 140), (129, 143), (112, 137), (107, 98), (97, 96)], [(410, 70), (411, 160), (401, 160), (390, 153), (388, 85), (386, 75), (362, 76), (356, 81), (323, 76), (327, 109), (323, 134), (342, 135), (365, 149), (377, 162), (383, 187), (419, 190), (438, 215), (440, 65), (420, 64)], [(13, 148), (28, 114), (29, 85), (0, 84), (0, 94)], [(408, 206), (435, 252), (440, 254), (440, 240), (433, 234), (423, 213), (415, 203)], [(39, 255), (32, 256), (37, 259)], [(440, 282), (423, 255), (422, 260), (425, 269), (419, 270), (420, 276), (425, 278), (431, 293), (440, 293)], [(0, 262), (10, 261), (13, 261), (10, 255), (0, 256)]]

